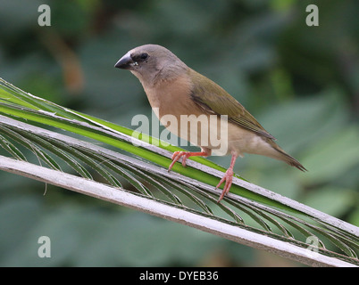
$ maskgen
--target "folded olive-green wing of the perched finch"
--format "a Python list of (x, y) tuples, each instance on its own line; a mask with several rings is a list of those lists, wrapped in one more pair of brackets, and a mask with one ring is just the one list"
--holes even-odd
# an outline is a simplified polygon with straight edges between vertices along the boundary
[(211, 79), (190, 69), (189, 76), (192, 79), (193, 87), (191, 98), (205, 112), (215, 115), (227, 115), (228, 120), (255, 134), (275, 140), (261, 124), (230, 94), (220, 85)]

